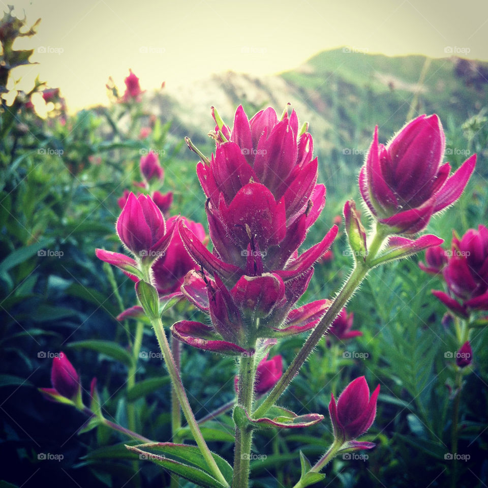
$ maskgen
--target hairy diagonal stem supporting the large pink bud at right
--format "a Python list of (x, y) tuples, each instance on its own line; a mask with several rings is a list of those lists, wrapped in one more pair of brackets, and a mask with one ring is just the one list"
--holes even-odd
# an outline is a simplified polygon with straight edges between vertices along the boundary
[(266, 397), (264, 402), (259, 406), (259, 408), (257, 408), (256, 411), (253, 413), (253, 418), (259, 418), (260, 416), (263, 416), (269, 408), (275, 405), (276, 401), (286, 390), (293, 378), (297, 375), (303, 363), (307, 360), (317, 343), (323, 337), (329, 325), (333, 322), (335, 317), (339, 315), (339, 313), (341, 312), (345, 304), (349, 301), (357, 287), (361, 284), (362, 280), (364, 280), (364, 278), (368, 275), (368, 272), (371, 269), (369, 263), (372, 262), (378, 254), (378, 251), (381, 248), (381, 244), (386, 237), (384, 231), (382, 230), (383, 229), (380, 229), (379, 226), (377, 227), (376, 233), (374, 234), (371, 244), (369, 246), (368, 256), (365, 258), (365, 260), (357, 259), (351, 275), (347, 279), (346, 283), (344, 283), (341, 291), (335, 297), (331, 306), (327, 309), (324, 317), (319, 322), (317, 327), (315, 327), (314, 331), (309, 335), (309, 338), (307, 339), (305, 344), (303, 344), (300, 351), (298, 351), (298, 354), (296, 355), (295, 359), (290, 364), (288, 369), (285, 371), (280, 381), (271, 390), (271, 392)]

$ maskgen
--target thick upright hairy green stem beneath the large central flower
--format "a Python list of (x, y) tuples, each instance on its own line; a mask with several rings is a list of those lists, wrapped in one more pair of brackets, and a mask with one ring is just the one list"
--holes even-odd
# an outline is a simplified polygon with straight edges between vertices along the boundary
[[(244, 407), (249, 415), (253, 408), (255, 370), (254, 355), (242, 355), (239, 365), (237, 403)], [(248, 487), (252, 440), (252, 429), (236, 426), (232, 488)]]

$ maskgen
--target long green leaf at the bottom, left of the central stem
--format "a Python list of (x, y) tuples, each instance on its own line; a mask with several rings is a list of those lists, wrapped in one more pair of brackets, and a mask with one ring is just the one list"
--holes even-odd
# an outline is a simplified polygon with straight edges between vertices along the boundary
[[(139, 459), (152, 461), (166, 468), (168, 471), (188, 479), (204, 488), (221, 488), (224, 485), (210, 474), (205, 458), (197, 446), (190, 444), (172, 444), (170, 442), (155, 442), (126, 446), (132, 452), (139, 454)], [(171, 457), (167, 457), (171, 456)], [(224, 478), (232, 481), (232, 468), (222, 457), (212, 452), (217, 466)], [(189, 463), (189, 464), (184, 464)]]

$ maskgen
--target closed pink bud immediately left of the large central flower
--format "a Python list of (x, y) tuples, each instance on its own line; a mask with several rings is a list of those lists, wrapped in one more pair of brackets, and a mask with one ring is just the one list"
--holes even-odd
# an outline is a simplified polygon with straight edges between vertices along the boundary
[(168, 247), (174, 224), (166, 229), (163, 214), (151, 197), (131, 193), (117, 219), (117, 234), (137, 257), (154, 260)]

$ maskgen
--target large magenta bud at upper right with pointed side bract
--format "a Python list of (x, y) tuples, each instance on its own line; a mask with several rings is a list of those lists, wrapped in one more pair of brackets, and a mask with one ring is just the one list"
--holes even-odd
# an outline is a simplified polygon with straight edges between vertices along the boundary
[(439, 117), (420, 115), (389, 144), (378, 143), (378, 127), (359, 174), (362, 198), (378, 222), (395, 234), (415, 234), (436, 212), (457, 200), (474, 171), (476, 155), (451, 176), (442, 164), (445, 137)]

